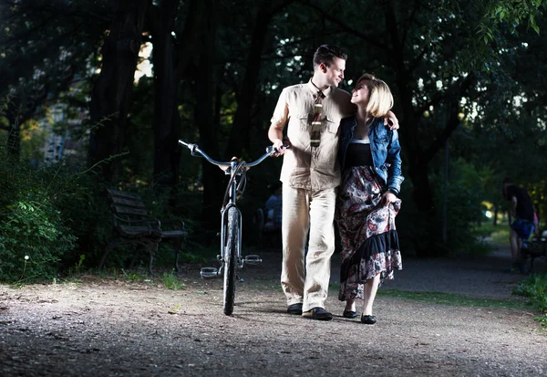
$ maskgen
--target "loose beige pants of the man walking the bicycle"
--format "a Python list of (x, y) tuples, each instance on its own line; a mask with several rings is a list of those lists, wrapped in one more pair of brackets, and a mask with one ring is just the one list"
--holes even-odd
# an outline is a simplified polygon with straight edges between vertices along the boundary
[(335, 204), (335, 188), (312, 192), (283, 185), (281, 286), (287, 305), (302, 302), (303, 311), (325, 308), (335, 251)]

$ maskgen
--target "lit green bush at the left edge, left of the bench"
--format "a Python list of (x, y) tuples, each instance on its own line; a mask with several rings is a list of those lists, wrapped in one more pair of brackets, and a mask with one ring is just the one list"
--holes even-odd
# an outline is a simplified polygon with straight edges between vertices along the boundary
[(64, 164), (34, 167), (5, 146), (0, 158), (0, 281), (49, 279), (94, 262), (111, 226), (98, 184)]

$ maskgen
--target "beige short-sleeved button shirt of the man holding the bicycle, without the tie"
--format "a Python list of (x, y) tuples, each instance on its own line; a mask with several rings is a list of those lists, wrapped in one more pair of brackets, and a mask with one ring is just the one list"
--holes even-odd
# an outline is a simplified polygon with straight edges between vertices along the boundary
[(338, 126), (340, 120), (355, 113), (350, 94), (330, 87), (323, 90), (321, 111), (321, 141), (310, 146), (315, 95), (319, 89), (311, 80), (283, 89), (272, 117), (272, 124), (287, 126), (291, 148), (284, 153), (281, 182), (294, 188), (325, 190), (340, 184), (337, 162)]

